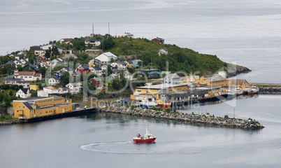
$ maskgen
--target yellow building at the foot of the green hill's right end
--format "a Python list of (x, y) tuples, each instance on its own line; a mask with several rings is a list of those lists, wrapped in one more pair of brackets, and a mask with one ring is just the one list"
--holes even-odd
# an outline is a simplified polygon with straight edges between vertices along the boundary
[(230, 85), (230, 81), (226, 78), (215, 74), (212, 76), (201, 76), (197, 79), (194, 83), (206, 83), (207, 85), (221, 85), (221, 86), (228, 86)]

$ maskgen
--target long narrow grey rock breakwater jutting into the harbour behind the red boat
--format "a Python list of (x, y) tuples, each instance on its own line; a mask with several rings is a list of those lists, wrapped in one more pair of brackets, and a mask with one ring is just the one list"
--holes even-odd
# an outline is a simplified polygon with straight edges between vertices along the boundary
[(221, 127), (236, 127), (241, 129), (261, 129), (264, 125), (261, 125), (255, 120), (238, 120), (231, 118), (219, 118), (216, 116), (178, 113), (178, 112), (163, 112), (154, 111), (151, 109), (136, 108), (131, 110), (127, 107), (110, 106), (107, 108), (99, 108), (98, 111), (106, 113), (120, 113), (131, 116), (142, 116), (148, 118), (159, 118), (165, 120), (177, 120), (182, 123), (200, 123), (205, 125), (221, 126)]

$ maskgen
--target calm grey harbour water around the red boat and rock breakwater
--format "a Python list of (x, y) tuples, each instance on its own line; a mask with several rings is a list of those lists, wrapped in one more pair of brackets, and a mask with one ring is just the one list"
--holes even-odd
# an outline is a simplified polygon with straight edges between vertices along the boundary
[[(262, 130), (182, 124), (108, 113), (0, 127), (1, 167), (280, 167), (281, 96), (202, 105), (215, 116), (259, 120)], [(134, 144), (149, 128), (157, 141)]]

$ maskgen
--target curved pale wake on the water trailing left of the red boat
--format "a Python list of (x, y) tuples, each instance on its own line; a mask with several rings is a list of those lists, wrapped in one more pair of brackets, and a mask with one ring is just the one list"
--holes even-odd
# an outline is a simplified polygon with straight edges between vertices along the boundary
[(147, 154), (157, 152), (154, 143), (139, 145), (134, 141), (99, 142), (80, 146), (82, 150), (98, 153)]

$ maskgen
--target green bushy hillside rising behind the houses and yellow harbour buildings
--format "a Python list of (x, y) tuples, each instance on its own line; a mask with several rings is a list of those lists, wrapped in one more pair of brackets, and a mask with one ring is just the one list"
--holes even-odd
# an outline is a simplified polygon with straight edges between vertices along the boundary
[[(216, 55), (200, 54), (188, 48), (155, 43), (146, 38), (112, 38), (110, 41), (112, 43), (110, 43), (111, 48), (108, 51), (118, 56), (134, 55), (136, 59), (143, 60), (143, 65), (150, 66), (152, 64), (153, 68), (161, 69), (161, 71), (166, 71), (166, 61), (168, 61), (169, 71), (184, 71), (186, 73), (199, 71), (200, 75), (215, 73), (227, 66), (226, 62), (222, 62)], [(159, 56), (157, 50), (161, 48), (166, 48), (168, 55)]]

